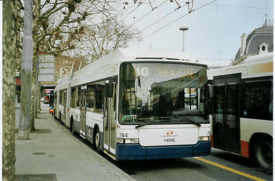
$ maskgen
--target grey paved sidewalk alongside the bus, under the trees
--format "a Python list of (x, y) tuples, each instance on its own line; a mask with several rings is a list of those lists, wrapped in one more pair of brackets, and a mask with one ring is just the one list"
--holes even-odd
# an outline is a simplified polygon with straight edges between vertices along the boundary
[(15, 133), (16, 175), (56, 174), (57, 181), (135, 180), (58, 125), (48, 109), (38, 114), (35, 128), (51, 133), (30, 133), (29, 140), (18, 140)]

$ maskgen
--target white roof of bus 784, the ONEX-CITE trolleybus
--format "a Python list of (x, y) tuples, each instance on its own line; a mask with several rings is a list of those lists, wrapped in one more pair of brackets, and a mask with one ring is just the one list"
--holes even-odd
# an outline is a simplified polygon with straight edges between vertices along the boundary
[[(83, 83), (91, 82), (92, 80), (99, 79), (99, 74), (104, 76), (113, 76), (117, 75), (117, 72), (113, 72), (113, 67), (119, 66), (122, 62), (125, 61), (145, 61), (145, 60), (165, 60), (165, 61), (174, 61), (174, 62), (185, 62), (202, 65), (198, 62), (195, 62), (195, 59), (185, 52), (169, 52), (169, 51), (150, 51), (150, 50), (133, 50), (128, 48), (117, 48), (115, 51), (110, 52), (109, 54), (95, 60), (94, 62), (86, 65), (78, 71), (72, 73), (72, 75), (67, 76), (62, 79), (59, 83), (59, 90), (65, 89), (68, 82), (72, 82), (72, 87), (80, 85)], [(110, 66), (111, 69), (110, 69)], [(205, 65), (207, 66), (207, 65)], [(109, 67), (105, 71), (101, 70), (103, 67)], [(110, 70), (109, 70), (110, 69)], [(92, 72), (97, 72), (95, 75), (92, 75)], [(95, 77), (96, 76), (96, 77)], [(102, 76), (102, 75), (101, 75)], [(84, 78), (81, 78), (84, 77)], [(103, 77), (102, 77), (103, 78)], [(84, 80), (85, 79), (85, 80)]]

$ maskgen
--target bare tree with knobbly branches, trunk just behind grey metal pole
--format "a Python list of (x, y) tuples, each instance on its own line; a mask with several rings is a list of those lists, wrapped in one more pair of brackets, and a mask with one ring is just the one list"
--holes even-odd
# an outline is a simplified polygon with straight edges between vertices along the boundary
[[(34, 97), (36, 80), (36, 63), (39, 52), (60, 56), (62, 52), (75, 48), (76, 42), (83, 35), (83, 30), (87, 24), (86, 18), (90, 17), (98, 21), (102, 14), (112, 18), (112, 11), (118, 4), (124, 1), (91, 1), (91, 0), (36, 0), (33, 3), (33, 85), (31, 95), (31, 118), (30, 130), (34, 130)], [(121, 5), (120, 5), (121, 6)], [(22, 12), (24, 11), (24, 1), (18, 0), (18, 32), (20, 48), (17, 52), (20, 57), (21, 52), (21, 32), (24, 28)], [(116, 12), (118, 13), (118, 12)], [(85, 22), (85, 23), (84, 23)], [(19, 67), (19, 65), (18, 65)], [(38, 97), (38, 96), (37, 96)]]

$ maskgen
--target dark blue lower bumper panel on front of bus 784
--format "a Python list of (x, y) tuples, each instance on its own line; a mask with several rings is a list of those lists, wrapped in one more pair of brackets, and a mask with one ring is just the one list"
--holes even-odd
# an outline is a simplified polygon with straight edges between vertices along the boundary
[(140, 144), (116, 144), (116, 160), (146, 160), (182, 158), (210, 155), (211, 141), (200, 141), (194, 145), (146, 146)]

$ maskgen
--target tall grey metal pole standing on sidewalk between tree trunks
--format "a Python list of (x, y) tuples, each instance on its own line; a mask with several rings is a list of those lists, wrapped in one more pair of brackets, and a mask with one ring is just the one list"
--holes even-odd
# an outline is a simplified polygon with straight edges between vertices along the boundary
[(21, 66), (21, 105), (18, 139), (29, 139), (31, 87), (33, 72), (33, 1), (25, 1), (24, 37)]

